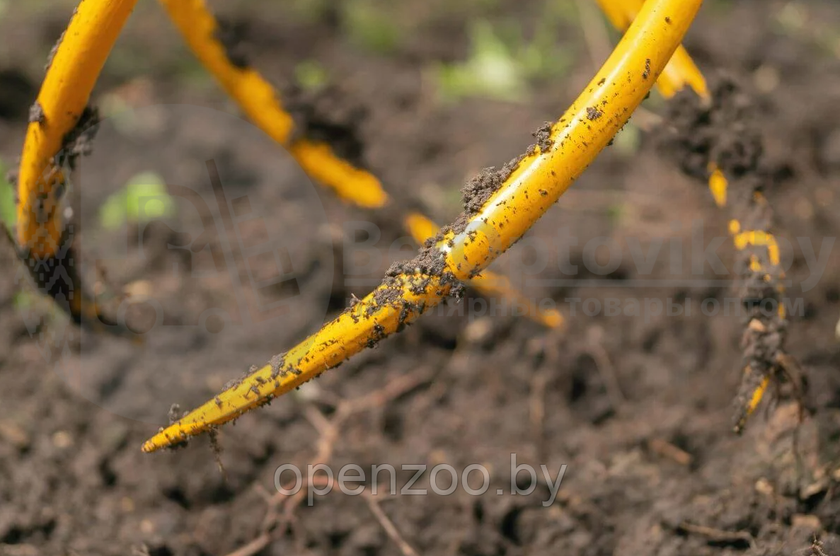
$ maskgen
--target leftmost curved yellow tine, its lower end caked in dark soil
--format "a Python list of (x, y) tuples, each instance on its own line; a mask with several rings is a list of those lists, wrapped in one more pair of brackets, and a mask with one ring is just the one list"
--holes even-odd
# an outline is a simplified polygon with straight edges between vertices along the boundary
[[(99, 72), (136, 0), (87, 0), (79, 4), (52, 53), (38, 100), (29, 113), (18, 171), (18, 253), (39, 289), (70, 312), (76, 323), (102, 318), (84, 295), (72, 249), (73, 230), (61, 197), (66, 174), (87, 154), (96, 111), (87, 107)], [(113, 324), (113, 323), (108, 323)], [(109, 326), (109, 330), (123, 328)]]

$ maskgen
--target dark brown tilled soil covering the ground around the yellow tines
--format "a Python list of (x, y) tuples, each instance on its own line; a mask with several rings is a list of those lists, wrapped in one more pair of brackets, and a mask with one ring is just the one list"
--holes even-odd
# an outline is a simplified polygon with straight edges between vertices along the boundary
[[(323, 64), (340, 82), (345, 106), (365, 108), (365, 118), (354, 120), (354, 133), (364, 145), (366, 164), (400, 206), (422, 206), (440, 223), (453, 222), (462, 211), (460, 186), (481, 168), (521, 154), (533, 142), (533, 129), (562, 113), (593, 73), (575, 19), (561, 24), (558, 33), (576, 53), (574, 70), (538, 81), (528, 102), (436, 102), (424, 72), (439, 60), (465, 56), (469, 18), (500, 25), (520, 22), (523, 29), (532, 29), (541, 17), (538, 3), (463, 3), (458, 8), (425, 0), (396, 3), (389, 17), (403, 25), (407, 38), (387, 55), (361, 50), (344, 24), (334, 20), (340, 20), (340, 11), (319, 20), (267, 0), (220, 4), (225, 17), (248, 23), (248, 63), (275, 81), (293, 75), (300, 60)], [(662, 155), (658, 140), (645, 138), (632, 152), (620, 149), (617, 141), (528, 239), (569, 248), (570, 262), (582, 269), (583, 246), (596, 237), (619, 243), (638, 238), (647, 253), (656, 238), (666, 238), (664, 249), (667, 239), (690, 244), (689, 223), (695, 219), (702, 219), (706, 238), (725, 236), (729, 215), (682, 170), (705, 173), (702, 163), (711, 150), (732, 151), (736, 139), (743, 149), (716, 158), (735, 174), (751, 168), (757, 160), (750, 150), (753, 137), (763, 147), (759, 176), (774, 211), (774, 232), (795, 246), (796, 238), (810, 238), (817, 252), (823, 238), (837, 236), (840, 60), (819, 37), (838, 28), (840, 9), (829, 0), (795, 3), (809, 22), (796, 32), (780, 26), (787, 3), (706, 4), (687, 46), (710, 76), (725, 71), (746, 83), (747, 108), (759, 114), (752, 120), (754, 129), (732, 134), (730, 144), (705, 132), (690, 138), (696, 141), (690, 152), (706, 149), (700, 155), (706, 158), (685, 155), (679, 160), (683, 168)], [(71, 10), (39, 11), (10, 3), (0, 19), (0, 36), (16, 48), (0, 58), (0, 75), (23, 72), (25, 81), (37, 83)], [(222, 92), (197, 75), (201, 71), (163, 11), (155, 3), (139, 3), (93, 100), (100, 106), (117, 97), (132, 106), (182, 102), (227, 107)], [(7, 83), (8, 94), (18, 94), (20, 80), (0, 81), (0, 87)], [(6, 93), (7, 88), (0, 90), (0, 156), (13, 163), (34, 91), (19, 100)], [(651, 100), (649, 109), (665, 113), (662, 102), (655, 96)], [(732, 106), (737, 112), (741, 105)], [(191, 152), (213, 139), (200, 123), (192, 131), (171, 133), (171, 149)], [(108, 142), (94, 142), (94, 148), (127, 166), (133, 156), (141, 158)], [(296, 222), (300, 249), (292, 254), (309, 254), (311, 262), (296, 268), (299, 282), (317, 281), (335, 270), (332, 285), (327, 280), (317, 296), (329, 316), (344, 310), (352, 296), (368, 293), (394, 260), (414, 256), (402, 249), (383, 258), (362, 276), (369, 286), (344, 281), (344, 265), (353, 260), (342, 249), (342, 226), (370, 215), (322, 191), (328, 225), (301, 218), (296, 197), (282, 189), (289, 181), (263, 171), (270, 156), (239, 144), (226, 149), (232, 162), (223, 167), (235, 170), (227, 177), (235, 178), (242, 194), (271, 207), (278, 220)], [(495, 182), (489, 180), (475, 195), (468, 191), (465, 200), (488, 194)], [(119, 183), (102, 180), (90, 187), (87, 194), (104, 200)], [(404, 233), (398, 218), (383, 222), (391, 224), (381, 227), (378, 245), (387, 251)], [(564, 227), (573, 230), (577, 244), (557, 233)], [(90, 241), (97, 238), (87, 233)], [(171, 230), (150, 233), (144, 249), (152, 262), (135, 265), (131, 257), (137, 254), (131, 254), (124, 266), (108, 267), (103, 282), (119, 289), (148, 281), (167, 318), (192, 323), (206, 307), (230, 303), (231, 294), (227, 282), (211, 278), (178, 286), (180, 278), (172, 269), (183, 267), (176, 265), (182, 255), (170, 248), (175, 239)], [(493, 269), (506, 273), (516, 261), (528, 260), (528, 249), (528, 241), (517, 244)], [(736, 254), (728, 242), (718, 252), (727, 268), (734, 268)], [(334, 269), (318, 266), (318, 255), (324, 253), (334, 255)], [(536, 277), (566, 278), (557, 270), (559, 255), (554, 253), (547, 270)], [(323, 311), (292, 314), (282, 326), (248, 328), (235, 341), (197, 327), (172, 326), (155, 353), (133, 351), (123, 338), (76, 341), (68, 344), (66, 357), (77, 362), (83, 352), (87, 365), (76, 383), (45, 365), (50, 328), (28, 328), (24, 322), (20, 292), (28, 290), (16, 280), (12, 249), (3, 248), (0, 554), (224, 555), (268, 530), (270, 541), (256, 553), (400, 554), (365, 497), (337, 489), (313, 506), (297, 506), (291, 521), (271, 528), (270, 523), (281, 522), (277, 517), (266, 525), (275, 469), (286, 463), (305, 468), (324, 457), (333, 469), (349, 463), (367, 470), (371, 464), (431, 468), (446, 463), (459, 471), (469, 464), (485, 465), (491, 485), (483, 496), (468, 496), (459, 488), (451, 496), (430, 492), (380, 499), (381, 511), (421, 554), (806, 556), (822, 551), (837, 556), (840, 346), (834, 328), (840, 317), (840, 258), (832, 254), (822, 279), (802, 293), (799, 285), (810, 275), (806, 260), (798, 247), (783, 255), (793, 258), (786, 273), (793, 282), (790, 296), (805, 298), (804, 315), (788, 323), (785, 344), (809, 385), (806, 401), (813, 414), (801, 427), (792, 392), (783, 388), (777, 403), (765, 402), (748, 422), (743, 436), (732, 434), (732, 400), (742, 380), (743, 322), (722, 312), (706, 317), (700, 302), (715, 297), (722, 305), (724, 297), (738, 292), (672, 285), (688, 273), (672, 275), (667, 264), (654, 266), (651, 275), (638, 275), (627, 255), (606, 276), (581, 271), (578, 277), (586, 281), (580, 283), (523, 287), (528, 296), (553, 298), (567, 315), (566, 298), (647, 297), (690, 299), (690, 316), (586, 317), (578, 307), (575, 317), (568, 317), (566, 332), (550, 333), (522, 317), (470, 320), (457, 311), (449, 317), (427, 314), (375, 349), (329, 370), (307, 385), (311, 389), (218, 430), (220, 472), (209, 438), (151, 455), (140, 453), (140, 443), (166, 424), (173, 403), (183, 410), (213, 399), (250, 364), (304, 338), (323, 320)], [(690, 262), (685, 263), (687, 268)], [(715, 278), (706, 272), (704, 278)], [(596, 285), (590, 278), (598, 279)], [(636, 285), (650, 279), (662, 282)], [(269, 295), (279, 299), (289, 287), (278, 286)], [(474, 298), (475, 292), (468, 291), (461, 303)], [(39, 311), (46, 318), (47, 311)], [(170, 371), (168, 381), (144, 380), (160, 376), (154, 374), (158, 367)], [(359, 402), (388, 385), (390, 390), (374, 401)], [(351, 401), (352, 412), (341, 409), (348, 407), (343, 401)], [(764, 411), (769, 405), (771, 411)], [(328, 451), (317, 413), (343, 419)], [(532, 496), (510, 496), (512, 453), (517, 463), (547, 465), (552, 476), (568, 464), (552, 506), (541, 504), (548, 486), (539, 470)], [(411, 475), (398, 473), (397, 484), (405, 485)], [(428, 488), (428, 471), (414, 486)], [(506, 494), (496, 496), (496, 489)], [(276, 509), (282, 515), (286, 506)]]

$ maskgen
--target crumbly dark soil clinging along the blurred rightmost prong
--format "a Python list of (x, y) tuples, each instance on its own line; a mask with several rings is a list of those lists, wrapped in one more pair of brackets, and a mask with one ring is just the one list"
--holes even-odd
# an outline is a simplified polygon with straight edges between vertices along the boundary
[[(727, 176), (725, 210), (730, 217), (743, 230), (774, 233), (773, 211), (764, 200), (764, 190), (774, 185), (774, 179), (764, 164), (760, 116), (752, 102), (755, 92), (731, 77), (716, 79), (711, 87), (710, 102), (683, 94), (671, 103), (666, 123), (659, 129), (662, 150), (704, 186), (710, 169), (721, 169)], [(751, 268), (752, 260), (760, 261), (759, 269)], [(739, 251), (736, 265), (745, 365), (734, 416), (734, 429), (740, 432), (749, 417), (753, 392), (767, 378), (778, 386), (785, 375), (780, 361), (790, 359), (785, 354), (785, 318), (776, 310), (762, 311), (762, 304), (780, 307), (784, 303), (784, 272), (770, 263), (766, 248), (755, 245)]]

